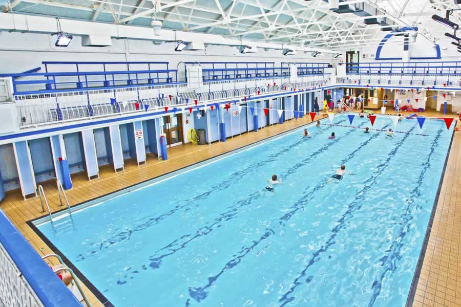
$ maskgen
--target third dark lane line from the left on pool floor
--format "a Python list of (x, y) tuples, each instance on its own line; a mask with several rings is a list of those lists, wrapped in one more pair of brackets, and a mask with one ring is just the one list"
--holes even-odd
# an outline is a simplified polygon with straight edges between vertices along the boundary
[[(387, 127), (389, 124), (385, 125), (384, 127)], [(353, 130), (351, 130), (353, 131)], [(348, 132), (348, 134), (350, 134), (351, 132)], [(354, 149), (353, 152), (351, 152), (347, 158), (345, 158), (343, 161), (347, 161), (351, 158), (353, 158), (355, 155), (355, 153), (357, 153), (358, 150), (360, 150), (361, 148), (363, 148), (364, 146), (366, 146), (372, 139), (375, 139), (376, 137), (378, 137), (379, 134), (374, 134), (372, 137), (368, 138), (367, 141), (363, 142), (360, 146), (358, 146), (358, 148)], [(329, 178), (329, 176), (328, 176)], [(326, 184), (326, 182), (322, 183), (320, 186), (318, 186), (317, 188), (314, 189), (314, 191), (317, 191), (319, 188), (323, 187), (324, 184)], [(279, 219), (280, 220), (285, 220), (285, 221), (288, 221), (291, 216), (297, 211), (299, 210), (300, 208), (303, 208), (302, 206), (299, 207), (299, 205), (302, 205), (306, 202), (309, 201), (309, 195), (311, 193), (308, 193), (306, 195), (303, 196), (303, 198), (301, 198), (298, 202), (296, 202), (296, 204), (294, 206), (292, 206), (293, 208), (295, 208), (294, 211), (288, 214), (285, 214), (284, 216), (280, 217)], [(280, 224), (282, 225), (283, 223), (280, 222)], [(282, 226), (284, 226), (285, 224), (283, 224)], [(211, 230), (210, 230), (211, 231)], [(251, 250), (253, 250), (256, 246), (259, 245), (259, 243), (262, 242), (262, 240), (265, 240), (266, 238), (268, 238), (271, 234), (274, 234), (275, 232), (271, 229), (271, 228), (266, 228), (266, 232), (258, 239), (258, 240), (254, 240), (253, 241), (253, 245), (252, 246), (249, 246), (249, 247), (243, 247), (239, 252), (235, 253), (234, 256), (235, 258), (231, 259), (230, 261), (227, 262), (227, 264), (225, 265), (225, 267), (215, 276), (212, 276), (212, 277), (208, 277), (208, 284), (206, 284), (204, 287), (190, 287), (189, 288), (189, 294), (192, 298), (194, 298), (196, 301), (200, 302), (201, 300), (205, 299), (208, 295), (208, 293), (205, 291), (205, 289), (209, 288), (212, 286), (213, 282), (215, 282), (217, 280), (217, 278), (222, 275), (226, 270), (228, 269), (231, 269), (233, 267), (235, 267), (236, 265), (239, 264), (239, 262), (243, 259), (243, 257), (248, 254), (248, 252), (250, 252)], [(237, 256), (238, 255), (238, 256)], [(186, 304), (185, 304), (186, 307), (189, 307), (191, 306), (191, 300), (190, 298), (187, 299), (186, 301)]]

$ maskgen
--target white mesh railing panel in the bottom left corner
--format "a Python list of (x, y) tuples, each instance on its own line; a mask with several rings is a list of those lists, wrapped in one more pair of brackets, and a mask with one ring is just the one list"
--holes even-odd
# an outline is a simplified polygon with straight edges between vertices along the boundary
[(0, 243), (0, 306), (41, 307), (43, 304)]

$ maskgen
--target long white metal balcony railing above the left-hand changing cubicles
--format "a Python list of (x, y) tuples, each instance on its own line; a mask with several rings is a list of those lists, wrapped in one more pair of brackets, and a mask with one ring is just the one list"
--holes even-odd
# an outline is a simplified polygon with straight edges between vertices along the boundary
[[(314, 87), (330, 79), (325, 75), (300, 76), (296, 83), (288, 77), (236, 80), (234, 82), (207, 82), (200, 91), (187, 90), (185, 84), (128, 87), (111, 91), (60, 92), (46, 95), (18, 95), (16, 108), (21, 128), (37, 127), (82, 119), (94, 119), (114, 115), (155, 111), (165, 106), (194, 105), (237, 99), (262, 93), (275, 93), (289, 89)], [(264, 82), (264, 83), (262, 83)], [(266, 83), (267, 82), (267, 83)], [(274, 85), (275, 83), (275, 85)], [(114, 98), (115, 97), (115, 98)], [(115, 102), (111, 102), (111, 98)]]

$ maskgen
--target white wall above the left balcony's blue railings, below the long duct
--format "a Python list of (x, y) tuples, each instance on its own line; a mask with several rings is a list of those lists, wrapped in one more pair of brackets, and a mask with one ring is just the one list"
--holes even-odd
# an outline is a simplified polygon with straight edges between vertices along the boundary
[[(240, 54), (237, 47), (208, 46), (204, 51), (175, 52), (173, 43), (160, 46), (142, 40), (112, 39), (110, 47), (81, 47), (80, 37), (67, 48), (54, 46), (56, 36), (34, 33), (0, 32), (0, 73), (21, 73), (41, 66), (41, 61), (168, 61), (176, 69), (180, 61), (259, 61), (330, 62), (313, 58), (310, 53), (283, 56), (282, 50), (258, 49), (257, 53)], [(183, 71), (183, 68), (180, 68)]]

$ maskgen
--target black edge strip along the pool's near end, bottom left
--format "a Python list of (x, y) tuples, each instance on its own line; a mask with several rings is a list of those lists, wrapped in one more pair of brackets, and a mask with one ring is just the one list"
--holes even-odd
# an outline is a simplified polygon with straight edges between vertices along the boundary
[[(66, 209), (67, 210), (67, 209)], [(75, 275), (77, 275), (77, 278), (85, 284), (85, 286), (90, 290), (93, 295), (105, 306), (105, 307), (115, 307), (114, 304), (112, 304), (104, 294), (102, 294), (98, 288), (94, 286), (94, 284), (83, 275), (80, 270), (77, 269), (76, 266), (72, 263), (70, 259), (68, 259), (61, 251), (53, 244), (51, 241), (43, 234), (41, 233), (40, 230), (34, 225), (32, 221), (27, 221), (27, 225), (38, 235), (38, 237), (43, 240), (43, 242), (55, 253), (56, 255), (59, 255), (64, 261), (64, 264), (71, 269)]]

